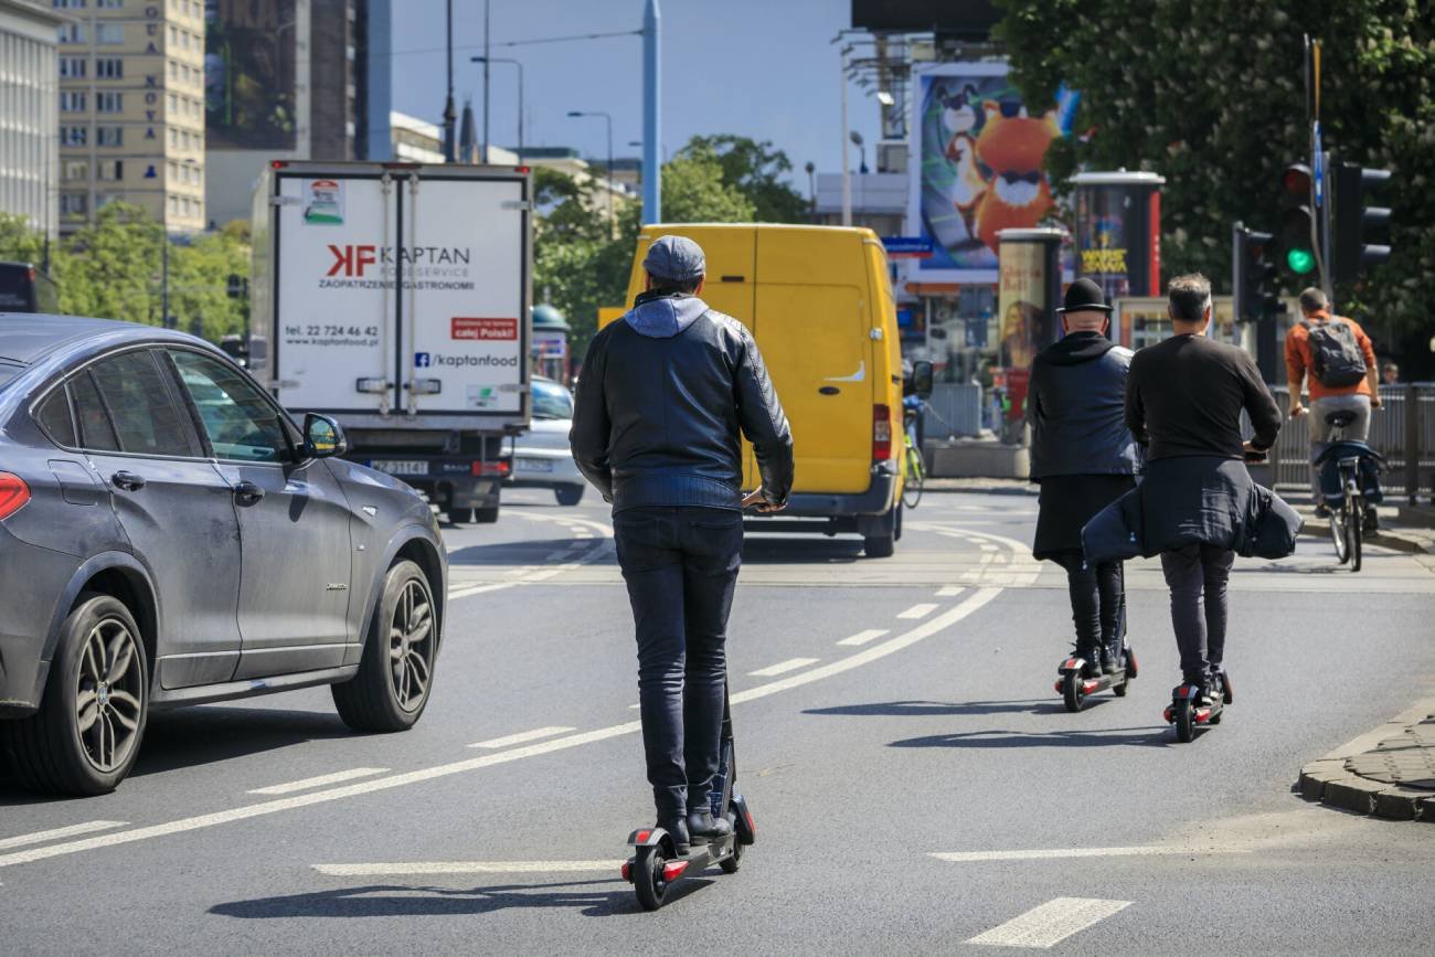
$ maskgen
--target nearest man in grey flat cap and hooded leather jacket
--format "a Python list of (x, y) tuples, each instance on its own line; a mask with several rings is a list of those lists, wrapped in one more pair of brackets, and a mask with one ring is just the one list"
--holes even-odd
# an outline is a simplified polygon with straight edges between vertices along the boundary
[[(785, 506), (792, 432), (752, 336), (697, 298), (702, 248), (664, 235), (643, 268), (647, 291), (588, 346), (568, 442), (578, 468), (613, 502), (637, 628), (647, 779), (657, 824), (684, 854), (690, 836), (730, 834), (713, 818), (709, 792), (742, 509)], [(746, 499), (742, 436), (762, 476)]]

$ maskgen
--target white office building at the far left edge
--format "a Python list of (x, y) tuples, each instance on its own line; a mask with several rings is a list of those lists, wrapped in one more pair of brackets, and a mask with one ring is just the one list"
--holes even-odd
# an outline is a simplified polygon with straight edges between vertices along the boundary
[(56, 32), (62, 16), (0, 0), (0, 212), (55, 235), (59, 152)]

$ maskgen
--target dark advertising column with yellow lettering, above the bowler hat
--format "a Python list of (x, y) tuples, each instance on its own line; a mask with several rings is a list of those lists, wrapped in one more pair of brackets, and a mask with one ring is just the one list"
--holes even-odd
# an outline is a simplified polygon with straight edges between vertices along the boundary
[[(1161, 296), (1161, 184), (1154, 172), (1079, 172), (1076, 268), (1101, 286), (1106, 301)], [(1122, 346), (1131, 326), (1122, 323)]]

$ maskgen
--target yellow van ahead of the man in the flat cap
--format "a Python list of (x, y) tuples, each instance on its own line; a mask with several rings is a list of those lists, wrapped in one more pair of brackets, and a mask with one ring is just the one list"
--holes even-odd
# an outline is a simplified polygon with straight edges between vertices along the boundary
[[(792, 423), (792, 499), (758, 529), (857, 532), (870, 557), (891, 555), (901, 537), (901, 343), (877, 234), (776, 224), (643, 227), (629, 304), (643, 291), (647, 247), (670, 232), (703, 247), (703, 301), (758, 340)], [(749, 449), (743, 488), (756, 484)]]

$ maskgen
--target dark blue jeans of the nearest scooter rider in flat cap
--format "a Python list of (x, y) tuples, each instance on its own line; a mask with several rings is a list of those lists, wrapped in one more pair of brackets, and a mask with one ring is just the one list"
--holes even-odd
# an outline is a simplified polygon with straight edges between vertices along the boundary
[(686, 814), (706, 806), (718, 773), (742, 514), (631, 508), (613, 528), (637, 626), (647, 779), (659, 816)]

